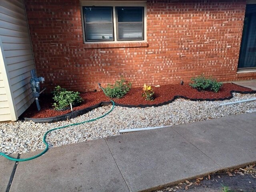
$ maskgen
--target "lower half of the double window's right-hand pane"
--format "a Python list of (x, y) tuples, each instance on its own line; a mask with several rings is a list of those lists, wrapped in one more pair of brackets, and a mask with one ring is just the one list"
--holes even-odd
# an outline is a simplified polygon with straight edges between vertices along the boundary
[(118, 24), (118, 39), (119, 40), (138, 40), (143, 39), (142, 29), (143, 24)]

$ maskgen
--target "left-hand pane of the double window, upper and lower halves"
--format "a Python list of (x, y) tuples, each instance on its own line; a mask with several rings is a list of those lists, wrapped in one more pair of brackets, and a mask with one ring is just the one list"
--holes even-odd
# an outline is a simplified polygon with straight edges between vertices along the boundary
[(113, 38), (112, 7), (84, 7), (86, 41)]

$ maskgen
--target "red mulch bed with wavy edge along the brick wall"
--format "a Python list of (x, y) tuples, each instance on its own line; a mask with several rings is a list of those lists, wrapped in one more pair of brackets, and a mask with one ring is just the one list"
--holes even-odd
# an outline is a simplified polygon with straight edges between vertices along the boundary
[[(162, 85), (160, 87), (154, 87), (154, 96), (153, 101), (146, 101), (142, 98), (142, 88), (132, 88), (123, 98), (112, 99), (118, 104), (124, 105), (152, 105), (160, 104), (163, 102), (170, 101), (174, 96), (184, 96), (190, 99), (223, 99), (231, 96), (230, 91), (242, 91), (249, 92), (252, 91), (250, 88), (244, 88), (236, 84), (225, 83), (220, 88), (218, 93), (201, 91), (199, 92), (196, 89), (191, 88), (188, 85), (179, 85), (179, 84), (170, 84)], [(102, 91), (100, 92), (83, 92), (80, 96), (84, 99), (84, 102), (77, 107), (74, 107), (73, 110), (80, 110), (93, 106), (102, 101), (109, 101), (110, 99), (104, 95)], [(33, 103), (22, 115), (26, 118), (48, 118), (58, 115), (63, 115), (71, 112), (71, 110), (66, 111), (56, 111), (52, 109), (53, 100), (50, 95), (40, 96), (39, 98), (41, 110), (38, 112), (36, 104)]]

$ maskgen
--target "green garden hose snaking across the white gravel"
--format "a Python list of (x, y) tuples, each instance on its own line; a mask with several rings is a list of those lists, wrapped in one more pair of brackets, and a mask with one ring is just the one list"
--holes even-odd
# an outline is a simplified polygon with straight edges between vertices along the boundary
[(112, 112), (112, 110), (114, 109), (114, 106), (115, 106), (114, 101), (112, 101), (112, 100), (110, 100), (110, 101), (112, 102), (112, 108), (111, 108), (107, 113), (105, 113), (104, 115), (102, 115), (102, 116), (100, 116), (100, 117), (97, 117), (97, 118), (94, 118), (94, 119), (90, 119), (90, 120), (87, 120), (87, 121), (83, 121), (83, 122), (80, 122), (80, 123), (69, 124), (69, 125), (65, 125), (65, 126), (61, 126), (61, 127), (57, 127), (57, 128), (53, 128), (53, 129), (51, 129), (51, 130), (48, 130), (48, 131), (44, 134), (44, 137), (43, 137), (43, 142), (44, 142), (44, 144), (46, 145), (46, 147), (45, 147), (44, 151), (41, 152), (40, 154), (37, 154), (37, 155), (32, 156), (32, 157), (30, 157), (30, 158), (24, 158), (24, 159), (12, 158), (12, 157), (10, 157), (10, 156), (8, 156), (8, 155), (6, 155), (6, 154), (4, 154), (4, 153), (1, 153), (1, 152), (0, 152), (0, 156), (2, 155), (2, 156), (4, 156), (5, 158), (7, 158), (7, 159), (9, 159), (9, 160), (12, 160), (12, 161), (29, 161), (29, 160), (38, 158), (38, 157), (40, 157), (41, 155), (45, 154), (46, 151), (47, 151), (48, 148), (49, 148), (49, 145), (48, 145), (48, 143), (47, 143), (46, 140), (45, 140), (45, 139), (46, 139), (46, 136), (47, 136), (47, 134), (48, 134), (49, 132), (54, 131), (54, 130), (57, 130), (57, 129), (62, 129), (62, 128), (70, 127), (70, 126), (75, 126), (75, 125), (84, 124), (84, 123), (87, 123), (87, 122), (92, 122), (92, 121), (98, 120), (98, 119), (100, 119), (100, 118), (106, 116), (107, 114), (109, 114), (110, 112)]

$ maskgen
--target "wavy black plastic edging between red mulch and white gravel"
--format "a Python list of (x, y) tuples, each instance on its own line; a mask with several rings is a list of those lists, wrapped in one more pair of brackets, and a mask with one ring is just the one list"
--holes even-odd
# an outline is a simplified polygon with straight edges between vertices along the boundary
[[(253, 93), (256, 93), (256, 90), (254, 91), (236, 91), (236, 90), (232, 90), (230, 91), (230, 96), (229, 97), (225, 97), (225, 98), (218, 98), (218, 99), (193, 99), (193, 98), (188, 98), (188, 97), (185, 97), (185, 96), (179, 96), (179, 95), (176, 95), (174, 96), (174, 98), (172, 98), (172, 100), (169, 100), (169, 101), (166, 101), (166, 102), (162, 102), (162, 103), (159, 103), (159, 104), (152, 104), (152, 105), (126, 105), (126, 104), (119, 104), (119, 103), (116, 103), (115, 102), (115, 105), (116, 106), (121, 106), (121, 107), (128, 107), (128, 108), (146, 108), (146, 107), (159, 107), (159, 106), (163, 106), (163, 105), (166, 105), (166, 104), (170, 104), (171, 102), (173, 102), (175, 99), (178, 99), (178, 98), (184, 98), (184, 99), (189, 99), (191, 101), (223, 101), (223, 100), (228, 100), (228, 99), (231, 99), (233, 97), (232, 93), (241, 93), (241, 94), (253, 94)], [(80, 110), (74, 110), (70, 113), (67, 113), (67, 114), (64, 114), (64, 115), (60, 115), (60, 116), (54, 116), (54, 117), (49, 117), (49, 118), (24, 118), (24, 120), (27, 120), (27, 121), (33, 121), (33, 122), (36, 122), (36, 123), (51, 123), (51, 122), (57, 122), (57, 121), (64, 121), (64, 120), (70, 120), (72, 118), (76, 118), (77, 116), (80, 116), (80, 115), (83, 115), (83, 114), (86, 114), (87, 112), (93, 110), (93, 109), (96, 109), (102, 105), (106, 105), (106, 104), (110, 104), (110, 102), (108, 101), (103, 101), (103, 102), (100, 102), (94, 106), (90, 106), (88, 108), (84, 108), (84, 109), (80, 109)]]

